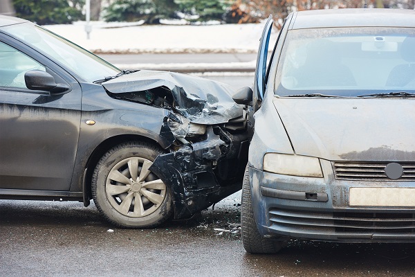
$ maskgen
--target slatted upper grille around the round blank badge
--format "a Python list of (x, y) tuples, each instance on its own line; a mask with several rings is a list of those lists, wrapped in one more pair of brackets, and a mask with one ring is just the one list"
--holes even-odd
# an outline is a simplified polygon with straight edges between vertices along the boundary
[(333, 162), (333, 170), (335, 179), (339, 180), (415, 181), (415, 163), (399, 163), (403, 167), (403, 175), (397, 180), (389, 179), (385, 174), (388, 164)]

